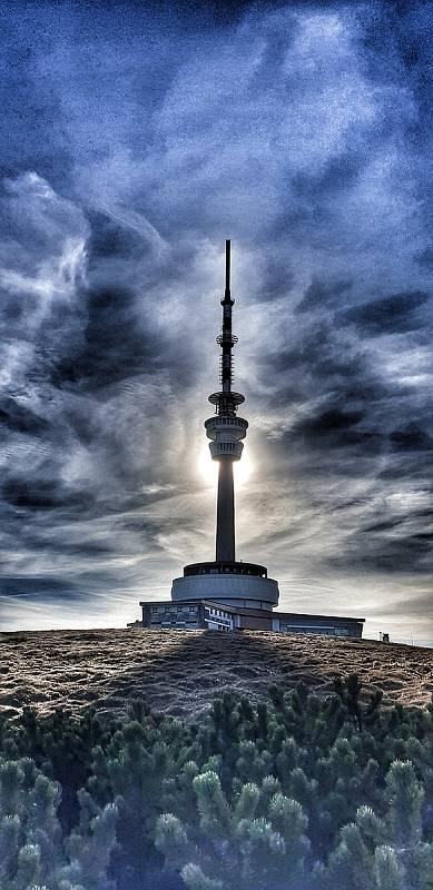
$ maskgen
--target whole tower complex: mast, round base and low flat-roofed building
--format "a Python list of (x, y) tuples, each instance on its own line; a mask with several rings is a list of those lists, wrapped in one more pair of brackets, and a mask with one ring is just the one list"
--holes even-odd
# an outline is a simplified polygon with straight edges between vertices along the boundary
[(278, 583), (267, 570), (244, 563), (235, 555), (235, 491), (233, 464), (239, 461), (248, 422), (237, 416), (244, 396), (232, 389), (232, 350), (237, 337), (232, 330), (230, 241), (226, 241), (226, 286), (220, 300), (223, 327), (220, 390), (209, 396), (215, 414), (205, 422), (213, 461), (218, 463), (216, 558), (186, 565), (171, 586), (171, 600), (141, 602), (142, 621), (130, 626), (234, 631), (263, 630), (279, 633), (322, 633), (362, 636), (364, 619), (274, 612)]

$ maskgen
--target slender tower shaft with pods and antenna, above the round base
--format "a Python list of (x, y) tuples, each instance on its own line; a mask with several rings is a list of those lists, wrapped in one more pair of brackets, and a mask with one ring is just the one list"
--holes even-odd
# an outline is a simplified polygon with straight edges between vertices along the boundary
[(220, 300), (223, 307), (223, 328), (217, 337), (222, 347), (220, 384), (222, 390), (213, 393), (209, 402), (215, 405), (216, 414), (205, 423), (213, 461), (218, 462), (218, 497), (216, 524), (216, 561), (235, 562), (235, 490), (233, 481), (233, 463), (240, 461), (242, 439), (246, 436), (248, 422), (236, 417), (238, 405), (245, 402), (240, 393), (234, 393), (232, 349), (237, 337), (232, 330), (232, 308), (235, 300), (230, 293), (230, 241), (226, 241), (226, 287)]

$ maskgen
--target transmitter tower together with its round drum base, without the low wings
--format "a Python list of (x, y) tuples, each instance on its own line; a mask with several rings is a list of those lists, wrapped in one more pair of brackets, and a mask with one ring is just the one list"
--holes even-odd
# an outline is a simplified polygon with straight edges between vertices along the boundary
[(278, 603), (278, 585), (267, 577), (263, 565), (236, 562), (235, 548), (235, 490), (233, 478), (234, 461), (240, 461), (248, 422), (237, 417), (238, 406), (245, 402), (240, 393), (232, 389), (233, 355), (237, 343), (232, 329), (232, 309), (235, 300), (230, 291), (230, 241), (226, 241), (226, 281), (223, 307), (223, 327), (217, 337), (220, 346), (220, 385), (217, 393), (209, 396), (215, 405), (215, 414), (205, 422), (210, 439), (213, 461), (218, 462), (218, 496), (216, 521), (215, 562), (186, 565), (184, 577), (173, 582), (171, 599), (213, 600), (244, 609), (272, 610)]

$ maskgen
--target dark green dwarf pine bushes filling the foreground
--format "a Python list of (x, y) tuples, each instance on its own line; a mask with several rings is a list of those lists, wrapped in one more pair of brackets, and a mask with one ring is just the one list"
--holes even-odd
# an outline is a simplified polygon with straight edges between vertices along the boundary
[(356, 676), (197, 724), (57, 712), (0, 726), (1, 890), (433, 888), (433, 706)]

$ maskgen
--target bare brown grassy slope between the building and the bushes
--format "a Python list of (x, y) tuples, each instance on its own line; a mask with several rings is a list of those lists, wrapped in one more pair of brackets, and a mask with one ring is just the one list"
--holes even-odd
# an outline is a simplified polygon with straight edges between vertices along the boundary
[(223, 690), (258, 699), (269, 683), (303, 680), (326, 692), (356, 672), (403, 704), (433, 692), (433, 650), (258, 631), (33, 631), (0, 634), (0, 713), (90, 704), (121, 714), (134, 698), (155, 710), (196, 716)]

